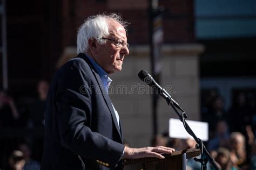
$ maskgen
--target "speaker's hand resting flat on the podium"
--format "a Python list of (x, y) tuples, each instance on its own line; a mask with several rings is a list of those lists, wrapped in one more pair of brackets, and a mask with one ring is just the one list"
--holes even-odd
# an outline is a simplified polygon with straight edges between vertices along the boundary
[(124, 155), (122, 159), (138, 159), (145, 157), (156, 157), (164, 159), (164, 156), (161, 154), (170, 154), (174, 152), (174, 148), (157, 146), (157, 147), (143, 147), (143, 148), (124, 148)]

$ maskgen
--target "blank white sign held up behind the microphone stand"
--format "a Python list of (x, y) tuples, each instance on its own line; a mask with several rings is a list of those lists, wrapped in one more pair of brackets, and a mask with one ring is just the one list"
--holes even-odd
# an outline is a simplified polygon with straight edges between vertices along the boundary
[[(194, 134), (203, 141), (208, 140), (208, 123), (198, 121), (187, 121)], [(169, 120), (169, 136), (171, 138), (187, 139), (193, 138), (185, 130), (183, 123), (179, 119), (171, 118)]]

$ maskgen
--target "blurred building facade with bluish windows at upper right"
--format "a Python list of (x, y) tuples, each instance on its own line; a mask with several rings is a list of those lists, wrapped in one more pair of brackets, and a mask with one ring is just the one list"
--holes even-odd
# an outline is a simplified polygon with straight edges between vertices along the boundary
[(240, 92), (255, 98), (256, 2), (196, 0), (194, 11), (195, 37), (205, 46), (200, 57), (202, 93), (217, 91), (226, 110)]

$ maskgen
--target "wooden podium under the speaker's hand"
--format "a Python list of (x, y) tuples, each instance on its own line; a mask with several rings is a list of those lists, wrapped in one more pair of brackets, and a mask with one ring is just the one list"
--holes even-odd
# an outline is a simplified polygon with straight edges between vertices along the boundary
[(192, 148), (164, 154), (165, 159), (141, 158), (124, 160), (124, 170), (184, 170), (186, 169), (186, 159), (197, 157), (200, 153), (201, 150)]

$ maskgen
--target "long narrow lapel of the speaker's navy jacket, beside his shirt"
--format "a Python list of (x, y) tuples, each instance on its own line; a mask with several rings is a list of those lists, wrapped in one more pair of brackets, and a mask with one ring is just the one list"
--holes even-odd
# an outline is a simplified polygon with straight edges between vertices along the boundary
[[(95, 68), (93, 67), (91, 61), (89, 59), (87, 59), (87, 56), (85, 56), (85, 54), (79, 54), (78, 57), (83, 58), (89, 64), (89, 66), (91, 67), (92, 73), (96, 77), (96, 80), (98, 82), (100, 90), (102, 91), (103, 98), (104, 98), (104, 100), (105, 100), (105, 102), (107, 104), (107, 107), (109, 108), (109, 110), (111, 112), (111, 116), (112, 116), (112, 119), (114, 121), (114, 125), (116, 126), (116, 129), (118, 131), (119, 137), (120, 137), (120, 139), (122, 141), (122, 134), (120, 132), (120, 129), (119, 129), (119, 126), (118, 126), (118, 123), (117, 123), (117, 118), (116, 118), (116, 114), (115, 114), (115, 112), (113, 110), (111, 99), (109, 97), (109, 94), (107, 94), (107, 91), (105, 90), (105, 88), (103, 86), (103, 83), (102, 83), (102, 80), (99, 77), (99, 74), (95, 72)], [(120, 128), (121, 128), (121, 126), (120, 126)]]

